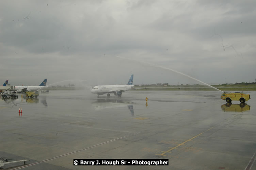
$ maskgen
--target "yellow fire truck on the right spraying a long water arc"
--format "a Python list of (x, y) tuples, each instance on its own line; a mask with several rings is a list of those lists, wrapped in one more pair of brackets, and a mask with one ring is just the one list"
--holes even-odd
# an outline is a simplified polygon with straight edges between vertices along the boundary
[(250, 100), (250, 95), (243, 94), (240, 92), (234, 92), (234, 93), (223, 93), (221, 95), (222, 100), (226, 100), (227, 103), (231, 102), (232, 100), (239, 100), (241, 103), (244, 103), (245, 101)]

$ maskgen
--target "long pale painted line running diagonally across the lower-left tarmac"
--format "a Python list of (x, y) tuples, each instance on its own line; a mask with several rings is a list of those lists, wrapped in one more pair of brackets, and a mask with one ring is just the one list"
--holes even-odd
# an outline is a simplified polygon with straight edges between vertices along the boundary
[(126, 135), (126, 136), (119, 137), (119, 138), (116, 138), (116, 139), (112, 139), (112, 140), (109, 140), (109, 141), (106, 141), (106, 142), (103, 142), (103, 143), (99, 143), (99, 144), (94, 145), (94, 146), (91, 146), (91, 147), (87, 147), (87, 148), (84, 148), (84, 149), (80, 149), (80, 150), (78, 150), (78, 151), (73, 151), (73, 152), (69, 152), (69, 153), (63, 154), (63, 155), (55, 156), (55, 157), (53, 157), (53, 158), (41, 160), (41, 161), (39, 161), (39, 162), (36, 162), (36, 163), (33, 163), (33, 164), (29, 164), (29, 165), (25, 165), (25, 166), (22, 166), (22, 167), (19, 167), (19, 168), (15, 168), (15, 169), (12, 169), (12, 170), (22, 169), (22, 168), (30, 167), (30, 166), (33, 166), (33, 165), (41, 164), (41, 163), (47, 162), (47, 161), (49, 161), (49, 160), (57, 159), (57, 158), (60, 158), (60, 157), (63, 157), (63, 156), (67, 156), (67, 155), (71, 155), (71, 154), (73, 154), (73, 153), (77, 153), (77, 152), (84, 151), (84, 150), (87, 150), (87, 149), (90, 149), (90, 148), (94, 148), (94, 147), (97, 147), (97, 146), (99, 146), (99, 145), (104, 145), (104, 144), (106, 144), (106, 143), (110, 143), (110, 142), (113, 142), (113, 141), (116, 141), (116, 140), (119, 140), (119, 139), (123, 139), (123, 138), (125, 138), (125, 137), (132, 136), (132, 135), (135, 135), (135, 134), (137, 134), (137, 133), (133, 133), (133, 134), (130, 134), (130, 135)]

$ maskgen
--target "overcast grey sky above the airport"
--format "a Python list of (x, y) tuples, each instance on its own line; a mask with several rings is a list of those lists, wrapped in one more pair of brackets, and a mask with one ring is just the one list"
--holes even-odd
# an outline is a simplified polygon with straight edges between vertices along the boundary
[(255, 0), (1, 1), (0, 83), (126, 84), (131, 74), (134, 84), (198, 83), (154, 65), (210, 84), (253, 82), (255, 6)]

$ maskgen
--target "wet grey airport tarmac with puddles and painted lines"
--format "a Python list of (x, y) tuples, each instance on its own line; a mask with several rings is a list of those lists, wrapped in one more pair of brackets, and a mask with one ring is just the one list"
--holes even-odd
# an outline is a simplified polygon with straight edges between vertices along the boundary
[[(251, 95), (245, 105), (227, 104), (219, 91), (97, 98), (86, 90), (52, 90), (37, 99), (0, 99), (0, 157), (30, 159), (2, 168), (256, 169), (256, 92), (244, 93)], [(169, 166), (73, 166), (75, 158), (163, 158)]]

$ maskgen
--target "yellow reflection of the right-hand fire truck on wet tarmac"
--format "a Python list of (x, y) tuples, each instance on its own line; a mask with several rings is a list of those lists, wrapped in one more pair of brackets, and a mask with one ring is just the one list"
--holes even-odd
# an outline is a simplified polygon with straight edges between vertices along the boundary
[(244, 112), (244, 111), (250, 111), (250, 105), (246, 103), (240, 103), (240, 104), (232, 104), (232, 103), (226, 103), (221, 105), (221, 109), (223, 112)]

